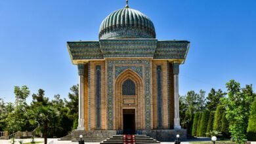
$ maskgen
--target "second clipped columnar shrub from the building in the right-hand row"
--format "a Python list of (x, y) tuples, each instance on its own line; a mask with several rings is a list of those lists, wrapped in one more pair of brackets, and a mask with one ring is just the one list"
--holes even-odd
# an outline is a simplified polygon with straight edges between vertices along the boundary
[(205, 109), (203, 111), (203, 115), (200, 120), (200, 130), (199, 130), (200, 137), (205, 137), (205, 133), (207, 130), (207, 124), (208, 124), (208, 120), (209, 120), (209, 115), (210, 115), (210, 111)]

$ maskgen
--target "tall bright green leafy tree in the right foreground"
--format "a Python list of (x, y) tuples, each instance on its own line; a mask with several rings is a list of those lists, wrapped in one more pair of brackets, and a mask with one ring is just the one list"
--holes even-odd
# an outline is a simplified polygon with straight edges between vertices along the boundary
[(223, 103), (226, 106), (226, 119), (230, 124), (229, 132), (236, 143), (242, 144), (246, 138), (250, 105), (255, 94), (251, 85), (241, 88), (240, 83), (234, 80), (227, 82), (226, 88), (228, 98), (223, 98)]

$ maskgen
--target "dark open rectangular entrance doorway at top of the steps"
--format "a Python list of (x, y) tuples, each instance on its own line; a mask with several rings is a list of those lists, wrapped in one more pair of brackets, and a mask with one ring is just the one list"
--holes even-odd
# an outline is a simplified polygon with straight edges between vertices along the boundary
[(123, 109), (123, 134), (135, 134), (135, 109)]

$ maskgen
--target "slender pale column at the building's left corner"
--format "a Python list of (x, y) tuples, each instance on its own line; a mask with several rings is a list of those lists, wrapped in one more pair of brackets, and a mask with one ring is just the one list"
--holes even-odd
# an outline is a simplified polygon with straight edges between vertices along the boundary
[(83, 77), (85, 75), (85, 65), (83, 64), (78, 64), (78, 75), (79, 75), (79, 101), (78, 101), (78, 126), (77, 126), (77, 130), (85, 130), (85, 126), (84, 126), (84, 105), (83, 105), (83, 86), (84, 86), (84, 82), (83, 82)]

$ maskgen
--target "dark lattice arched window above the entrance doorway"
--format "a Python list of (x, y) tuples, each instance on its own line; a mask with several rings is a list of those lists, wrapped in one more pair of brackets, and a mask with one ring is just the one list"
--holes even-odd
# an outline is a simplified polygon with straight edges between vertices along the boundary
[(135, 95), (135, 82), (131, 81), (131, 79), (127, 79), (122, 84), (122, 94), (128, 96)]

